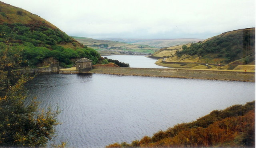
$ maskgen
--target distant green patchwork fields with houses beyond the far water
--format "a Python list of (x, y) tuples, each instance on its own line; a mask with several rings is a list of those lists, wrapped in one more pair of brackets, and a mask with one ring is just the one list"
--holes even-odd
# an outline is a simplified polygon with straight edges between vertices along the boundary
[(131, 43), (123, 43), (119, 41), (108, 41), (91, 39), (86, 37), (73, 37), (76, 41), (84, 46), (90, 47), (98, 51), (101, 55), (111, 54), (132, 54), (132, 55), (149, 55), (158, 51), (158, 48), (148, 45), (134, 45)]

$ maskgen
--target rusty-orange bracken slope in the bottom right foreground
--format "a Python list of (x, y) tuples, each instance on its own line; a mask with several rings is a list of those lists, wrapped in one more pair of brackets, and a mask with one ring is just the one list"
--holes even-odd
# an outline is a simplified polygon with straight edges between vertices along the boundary
[(152, 137), (113, 147), (255, 147), (255, 101), (215, 110), (191, 123), (181, 123)]

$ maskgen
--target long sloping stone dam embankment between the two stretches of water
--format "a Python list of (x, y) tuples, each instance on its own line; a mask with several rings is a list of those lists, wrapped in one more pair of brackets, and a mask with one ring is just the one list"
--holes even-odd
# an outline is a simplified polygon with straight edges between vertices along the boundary
[(255, 72), (242, 70), (196, 70), (174, 68), (126, 68), (126, 67), (95, 67), (88, 73), (116, 74), (123, 76), (154, 76), (166, 78), (189, 78), (206, 80), (227, 80), (255, 82)]

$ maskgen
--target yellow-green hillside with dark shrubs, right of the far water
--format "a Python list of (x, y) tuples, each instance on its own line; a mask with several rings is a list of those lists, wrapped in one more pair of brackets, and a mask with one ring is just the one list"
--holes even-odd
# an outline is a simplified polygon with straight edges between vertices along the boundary
[(232, 70), (240, 65), (240, 70), (249, 67), (247, 70), (255, 70), (255, 28), (228, 31), (203, 42), (160, 49), (152, 56), (164, 58), (157, 64), (174, 68)]

